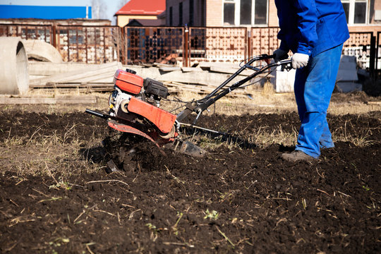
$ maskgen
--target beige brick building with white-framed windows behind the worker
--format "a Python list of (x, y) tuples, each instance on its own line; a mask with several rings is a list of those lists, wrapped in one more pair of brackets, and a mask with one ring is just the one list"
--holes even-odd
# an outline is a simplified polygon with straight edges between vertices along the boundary
[[(341, 2), (350, 27), (381, 25), (380, 0)], [(273, 0), (167, 0), (166, 8), (168, 26), (278, 26), (277, 8)]]

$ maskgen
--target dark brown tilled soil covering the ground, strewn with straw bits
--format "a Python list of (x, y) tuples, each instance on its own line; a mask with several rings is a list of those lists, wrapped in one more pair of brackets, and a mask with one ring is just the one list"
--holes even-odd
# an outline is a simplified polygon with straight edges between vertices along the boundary
[[(83, 113), (15, 111), (0, 118), (0, 145), (53, 133), (70, 143), (65, 133), (73, 126), (84, 145), (90, 136), (110, 135), (102, 119)], [(0, 161), (0, 251), (381, 253), (380, 118), (381, 112), (329, 116), (337, 135), (350, 131), (373, 141), (338, 142), (317, 162), (282, 161), (281, 152), (293, 149), (282, 144), (222, 145), (200, 159), (169, 150), (163, 156), (144, 143), (109, 155), (124, 171), (56, 174), (57, 184), (50, 176), (17, 175)], [(289, 113), (210, 116), (198, 124), (245, 137), (274, 126), (290, 133), (299, 122)], [(98, 150), (81, 151), (87, 157), (78, 161), (99, 160)]]

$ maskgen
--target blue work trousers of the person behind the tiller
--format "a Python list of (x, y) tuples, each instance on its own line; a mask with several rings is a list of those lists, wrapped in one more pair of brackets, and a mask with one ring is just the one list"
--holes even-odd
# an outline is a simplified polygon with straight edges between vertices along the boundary
[(327, 123), (327, 109), (336, 82), (341, 50), (339, 45), (311, 57), (308, 65), (296, 70), (294, 92), (301, 128), (295, 150), (314, 158), (320, 148), (334, 147)]

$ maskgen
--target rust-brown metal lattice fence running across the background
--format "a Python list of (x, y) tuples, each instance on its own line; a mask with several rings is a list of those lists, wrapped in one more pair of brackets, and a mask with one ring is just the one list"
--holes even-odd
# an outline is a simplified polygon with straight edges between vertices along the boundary
[[(63, 61), (105, 63), (239, 62), (279, 47), (279, 28), (170, 28), (83, 25), (0, 24), (0, 36), (43, 40), (56, 47)], [(343, 54), (358, 66), (381, 68), (381, 32), (351, 32)]]

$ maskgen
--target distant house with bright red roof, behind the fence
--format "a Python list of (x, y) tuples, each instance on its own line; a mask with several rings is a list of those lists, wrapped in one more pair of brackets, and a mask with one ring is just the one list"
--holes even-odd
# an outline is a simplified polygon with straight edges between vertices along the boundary
[(130, 0), (115, 13), (116, 25), (121, 28), (126, 25), (165, 25), (165, 20), (161, 18), (165, 4), (165, 0)]

